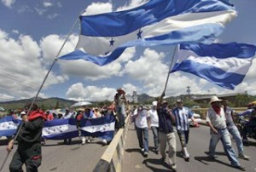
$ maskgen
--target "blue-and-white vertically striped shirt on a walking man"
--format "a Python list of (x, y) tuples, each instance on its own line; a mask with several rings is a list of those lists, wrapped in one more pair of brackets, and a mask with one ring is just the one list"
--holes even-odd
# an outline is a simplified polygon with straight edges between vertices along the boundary
[(183, 106), (183, 108), (176, 107), (172, 113), (175, 117), (176, 129), (189, 130), (189, 118), (193, 117), (193, 112), (188, 107)]

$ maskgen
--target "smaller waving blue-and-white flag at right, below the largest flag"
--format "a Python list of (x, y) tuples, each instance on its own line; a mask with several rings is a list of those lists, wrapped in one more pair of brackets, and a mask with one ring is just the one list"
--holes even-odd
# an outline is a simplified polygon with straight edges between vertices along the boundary
[(252, 65), (256, 46), (247, 43), (185, 43), (170, 72), (189, 72), (225, 89), (235, 89)]

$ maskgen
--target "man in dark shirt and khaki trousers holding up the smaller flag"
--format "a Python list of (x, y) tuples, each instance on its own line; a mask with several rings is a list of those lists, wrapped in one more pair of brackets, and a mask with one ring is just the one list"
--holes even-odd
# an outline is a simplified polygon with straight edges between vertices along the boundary
[(173, 171), (176, 171), (176, 136), (172, 127), (174, 117), (172, 112), (168, 109), (168, 103), (160, 96), (157, 110), (159, 114), (159, 140), (160, 140), (160, 154), (162, 160), (166, 160), (166, 142), (168, 148), (168, 163)]

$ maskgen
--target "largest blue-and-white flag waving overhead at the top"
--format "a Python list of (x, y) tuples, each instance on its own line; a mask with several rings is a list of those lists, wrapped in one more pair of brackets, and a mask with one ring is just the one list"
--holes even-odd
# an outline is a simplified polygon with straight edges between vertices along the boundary
[(88, 60), (99, 66), (128, 47), (212, 43), (236, 11), (219, 0), (151, 0), (135, 9), (80, 16), (76, 50), (61, 60)]

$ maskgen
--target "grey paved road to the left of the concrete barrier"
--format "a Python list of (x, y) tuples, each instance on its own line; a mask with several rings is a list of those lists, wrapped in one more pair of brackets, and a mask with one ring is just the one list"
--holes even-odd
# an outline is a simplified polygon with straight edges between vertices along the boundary
[[(38, 170), (41, 172), (90, 172), (108, 147), (102, 146), (100, 141), (96, 138), (91, 143), (82, 146), (79, 138), (75, 138), (71, 145), (62, 145), (61, 140), (47, 140), (46, 145), (42, 146), (43, 161)], [(0, 165), (6, 156), (6, 145), (3, 144), (3, 140), (1, 142)], [(15, 149), (16, 146), (9, 155), (4, 172), (9, 171), (9, 163)]]

